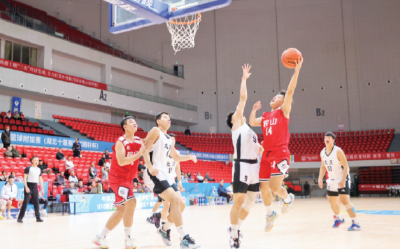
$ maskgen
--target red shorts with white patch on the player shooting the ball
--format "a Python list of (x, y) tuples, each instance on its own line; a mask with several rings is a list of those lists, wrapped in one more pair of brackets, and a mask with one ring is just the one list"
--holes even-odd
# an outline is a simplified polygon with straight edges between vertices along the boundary
[(264, 151), (260, 163), (260, 182), (268, 182), (271, 176), (287, 174), (289, 163), (289, 150)]

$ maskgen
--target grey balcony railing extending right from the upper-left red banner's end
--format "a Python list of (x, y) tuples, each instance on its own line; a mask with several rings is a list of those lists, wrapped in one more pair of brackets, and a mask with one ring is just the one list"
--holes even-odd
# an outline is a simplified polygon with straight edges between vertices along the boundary
[(130, 96), (130, 97), (134, 97), (134, 98), (138, 98), (138, 99), (144, 99), (144, 100), (148, 100), (151, 102), (156, 102), (156, 103), (160, 103), (160, 104), (164, 104), (164, 105), (174, 106), (177, 108), (197, 112), (197, 106), (184, 104), (184, 103), (180, 103), (180, 102), (169, 100), (169, 99), (163, 99), (163, 98), (148, 95), (145, 93), (135, 92), (135, 91), (122, 89), (122, 88), (110, 86), (110, 85), (107, 85), (107, 90), (110, 92), (122, 94), (125, 96)]

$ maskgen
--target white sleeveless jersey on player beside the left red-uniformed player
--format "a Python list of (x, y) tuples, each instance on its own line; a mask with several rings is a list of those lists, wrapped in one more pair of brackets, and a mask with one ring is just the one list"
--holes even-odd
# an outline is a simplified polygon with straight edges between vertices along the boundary
[(153, 144), (150, 152), (150, 161), (153, 167), (161, 173), (168, 173), (168, 158), (171, 151), (171, 137), (164, 134), (159, 128), (160, 136), (155, 144)]

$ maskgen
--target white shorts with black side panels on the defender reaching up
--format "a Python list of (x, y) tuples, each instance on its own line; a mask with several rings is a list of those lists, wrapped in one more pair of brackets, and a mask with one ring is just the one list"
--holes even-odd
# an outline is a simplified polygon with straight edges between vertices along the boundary
[(235, 161), (232, 168), (233, 193), (260, 190), (260, 164)]

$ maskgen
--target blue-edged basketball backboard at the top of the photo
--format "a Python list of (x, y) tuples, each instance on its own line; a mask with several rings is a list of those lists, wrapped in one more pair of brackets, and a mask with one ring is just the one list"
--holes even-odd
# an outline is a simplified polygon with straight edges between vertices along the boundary
[(232, 0), (104, 0), (113, 34), (165, 23), (231, 4)]

